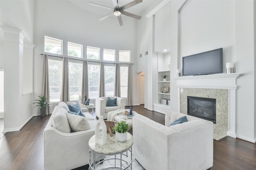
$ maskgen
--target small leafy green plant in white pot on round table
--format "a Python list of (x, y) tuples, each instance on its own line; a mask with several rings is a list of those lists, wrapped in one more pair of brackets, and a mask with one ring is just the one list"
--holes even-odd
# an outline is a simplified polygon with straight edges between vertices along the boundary
[(130, 127), (126, 121), (120, 121), (112, 130), (116, 132), (119, 142), (125, 142), (127, 140), (127, 131), (130, 130)]

